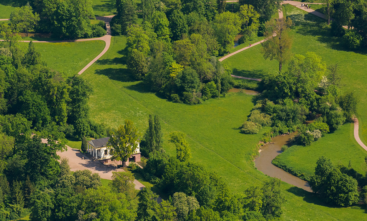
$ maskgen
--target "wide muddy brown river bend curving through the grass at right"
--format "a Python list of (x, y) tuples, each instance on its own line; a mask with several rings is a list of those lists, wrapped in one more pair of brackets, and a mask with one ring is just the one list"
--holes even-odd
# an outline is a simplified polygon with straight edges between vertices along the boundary
[(295, 133), (285, 136), (276, 136), (272, 139), (271, 144), (262, 146), (260, 156), (255, 159), (255, 165), (258, 170), (270, 177), (279, 178), (281, 181), (312, 192), (307, 181), (301, 180), (300, 178), (293, 176), (272, 164), (272, 160), (283, 152), (280, 150), (281, 146), (287, 144), (288, 140), (294, 135)]

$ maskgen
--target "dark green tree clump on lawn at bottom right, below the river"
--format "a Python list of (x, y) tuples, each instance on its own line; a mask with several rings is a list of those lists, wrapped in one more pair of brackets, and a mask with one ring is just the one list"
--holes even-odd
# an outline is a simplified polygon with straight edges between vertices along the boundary
[(351, 206), (359, 201), (358, 184), (354, 178), (342, 174), (325, 156), (317, 159), (316, 165), (315, 175), (309, 181), (313, 192), (325, 202), (338, 206)]

